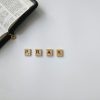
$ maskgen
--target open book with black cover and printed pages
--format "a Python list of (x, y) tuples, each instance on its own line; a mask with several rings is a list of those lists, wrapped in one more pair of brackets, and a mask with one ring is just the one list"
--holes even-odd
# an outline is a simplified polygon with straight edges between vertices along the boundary
[(35, 0), (0, 0), (0, 48), (37, 6)]

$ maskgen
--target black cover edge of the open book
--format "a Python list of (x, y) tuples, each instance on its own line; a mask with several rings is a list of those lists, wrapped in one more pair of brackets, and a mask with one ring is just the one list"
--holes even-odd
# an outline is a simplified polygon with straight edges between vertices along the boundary
[(18, 20), (8, 29), (8, 32), (5, 33), (3, 38), (0, 40), (0, 48), (11, 39), (11, 36), (14, 35), (15, 30), (20, 24), (37, 8), (38, 2), (36, 0), (31, 0), (33, 6), (30, 7)]

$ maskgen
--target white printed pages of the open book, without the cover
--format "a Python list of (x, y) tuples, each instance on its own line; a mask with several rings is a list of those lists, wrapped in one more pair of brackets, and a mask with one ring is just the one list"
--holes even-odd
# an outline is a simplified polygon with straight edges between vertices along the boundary
[(0, 0), (0, 36), (32, 5), (30, 0)]

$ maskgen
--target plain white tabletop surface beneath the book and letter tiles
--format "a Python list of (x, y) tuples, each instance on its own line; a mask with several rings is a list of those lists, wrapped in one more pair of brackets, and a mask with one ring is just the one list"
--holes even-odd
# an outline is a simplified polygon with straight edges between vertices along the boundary
[[(0, 50), (0, 100), (100, 100), (100, 0), (40, 0)], [(25, 57), (63, 48), (65, 57)]]

